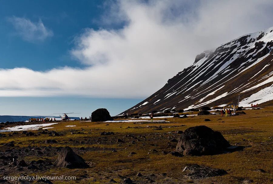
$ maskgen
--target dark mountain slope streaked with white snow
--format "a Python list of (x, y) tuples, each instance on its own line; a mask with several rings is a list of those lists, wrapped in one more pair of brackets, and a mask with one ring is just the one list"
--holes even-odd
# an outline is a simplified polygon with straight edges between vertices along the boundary
[(273, 105), (273, 27), (243, 35), (196, 56), (159, 91), (122, 114), (202, 106)]

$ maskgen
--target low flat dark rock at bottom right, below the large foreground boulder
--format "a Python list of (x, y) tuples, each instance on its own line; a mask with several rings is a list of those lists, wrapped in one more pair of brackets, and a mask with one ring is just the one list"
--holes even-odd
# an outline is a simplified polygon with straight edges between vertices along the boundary
[(206, 166), (199, 166), (197, 164), (185, 167), (183, 172), (187, 172), (185, 176), (189, 179), (200, 179), (227, 174), (223, 169), (214, 169)]

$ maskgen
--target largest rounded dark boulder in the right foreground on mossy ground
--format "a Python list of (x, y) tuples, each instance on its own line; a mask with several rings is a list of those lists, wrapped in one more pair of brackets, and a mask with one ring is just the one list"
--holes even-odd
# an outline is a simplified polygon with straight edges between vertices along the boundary
[(220, 132), (201, 125), (186, 129), (180, 136), (175, 151), (191, 156), (214, 155), (229, 146)]

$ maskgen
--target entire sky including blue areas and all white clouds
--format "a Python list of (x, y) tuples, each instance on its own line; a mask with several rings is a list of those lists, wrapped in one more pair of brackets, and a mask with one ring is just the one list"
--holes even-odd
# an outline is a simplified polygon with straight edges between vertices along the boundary
[(0, 1), (0, 115), (116, 115), (204, 50), (272, 27), (272, 9), (271, 0)]

